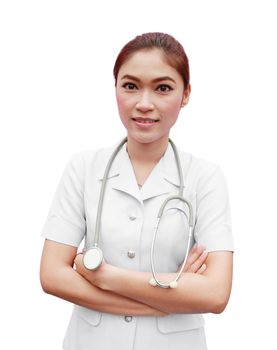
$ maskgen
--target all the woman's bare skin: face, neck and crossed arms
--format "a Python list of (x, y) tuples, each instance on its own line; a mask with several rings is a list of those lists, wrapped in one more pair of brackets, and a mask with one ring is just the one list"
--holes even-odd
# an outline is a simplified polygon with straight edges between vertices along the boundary
[[(166, 77), (166, 78), (165, 78)], [(138, 184), (143, 185), (163, 156), (172, 126), (189, 100), (190, 86), (169, 66), (160, 50), (141, 50), (120, 68), (116, 98), (128, 134), (127, 150)], [(87, 270), (77, 249), (46, 240), (41, 284), (46, 293), (75, 304), (120, 315), (163, 316), (169, 313), (220, 313), (232, 283), (232, 253), (207, 253), (195, 246), (176, 289), (151, 286), (148, 272), (103, 263)], [(75, 268), (74, 268), (75, 264)], [(175, 274), (159, 274), (172, 280)], [(121, 281), (121, 283), (118, 283)], [(74, 286), (74, 288), (72, 288)]]

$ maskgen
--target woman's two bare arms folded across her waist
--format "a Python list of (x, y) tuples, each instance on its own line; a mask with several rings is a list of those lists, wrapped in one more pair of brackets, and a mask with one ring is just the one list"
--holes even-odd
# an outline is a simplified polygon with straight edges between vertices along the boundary
[[(232, 282), (232, 253), (207, 254), (195, 247), (176, 289), (152, 287), (148, 272), (103, 264), (87, 270), (77, 249), (46, 240), (40, 278), (46, 293), (94, 310), (119, 315), (163, 316), (168, 313), (222, 312)], [(75, 263), (76, 269), (73, 268)], [(175, 276), (175, 275), (174, 275)], [(159, 274), (171, 280), (172, 274)]]

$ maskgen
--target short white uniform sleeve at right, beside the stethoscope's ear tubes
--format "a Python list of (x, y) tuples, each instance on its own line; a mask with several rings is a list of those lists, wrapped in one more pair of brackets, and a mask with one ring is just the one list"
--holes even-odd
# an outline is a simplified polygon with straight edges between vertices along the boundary
[(230, 203), (225, 177), (218, 166), (199, 180), (195, 240), (207, 251), (233, 251)]

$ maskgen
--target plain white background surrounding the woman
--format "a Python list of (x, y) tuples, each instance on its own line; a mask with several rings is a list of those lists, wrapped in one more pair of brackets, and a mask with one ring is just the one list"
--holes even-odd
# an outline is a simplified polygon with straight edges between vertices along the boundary
[[(70, 156), (124, 135), (112, 69), (135, 35), (185, 47), (192, 95), (177, 145), (219, 163), (236, 242), (234, 284), (206, 316), (209, 349), (276, 341), (274, 1), (0, 2), (1, 349), (61, 349), (71, 305), (39, 284), (41, 228)], [(3, 345), (5, 344), (5, 345)]]

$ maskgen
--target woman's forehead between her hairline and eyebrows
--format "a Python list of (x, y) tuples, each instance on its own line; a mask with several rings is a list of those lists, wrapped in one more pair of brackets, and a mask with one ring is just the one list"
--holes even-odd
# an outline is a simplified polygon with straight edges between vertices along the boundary
[(163, 51), (159, 49), (140, 50), (134, 53), (120, 67), (119, 79), (125, 74), (149, 79), (170, 76), (175, 80), (182, 80), (176, 69), (166, 62)]

